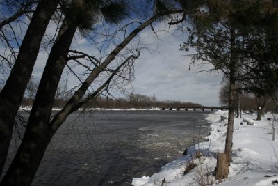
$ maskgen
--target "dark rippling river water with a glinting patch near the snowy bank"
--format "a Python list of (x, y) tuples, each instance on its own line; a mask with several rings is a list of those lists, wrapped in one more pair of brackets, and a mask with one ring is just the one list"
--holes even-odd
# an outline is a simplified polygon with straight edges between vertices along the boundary
[[(51, 140), (33, 185), (131, 185), (206, 135), (206, 111), (75, 112)], [(15, 153), (11, 146), (9, 159)]]

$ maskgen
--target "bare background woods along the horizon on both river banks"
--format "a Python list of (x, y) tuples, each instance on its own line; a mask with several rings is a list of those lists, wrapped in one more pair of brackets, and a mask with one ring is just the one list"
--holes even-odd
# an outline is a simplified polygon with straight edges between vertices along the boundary
[[(223, 87), (219, 91), (219, 104), (220, 106), (227, 106), (227, 95), (228, 92), (223, 91)], [(62, 108), (70, 98), (69, 95), (57, 94), (54, 102), (54, 107)], [(238, 98), (239, 99), (239, 98)], [(22, 100), (22, 106), (31, 107), (33, 105), (34, 98), (30, 94), (26, 93)], [(125, 98), (113, 98), (99, 96), (84, 105), (83, 109), (86, 108), (102, 108), (102, 109), (149, 109), (149, 108), (160, 108), (160, 107), (199, 107), (199, 106), (212, 106), (202, 105), (197, 102), (182, 102), (177, 100), (157, 100), (156, 95), (148, 96), (137, 93), (131, 93), (126, 95)], [(238, 110), (242, 111), (256, 111), (257, 103), (256, 97), (252, 94), (243, 93), (240, 95), (240, 107), (236, 104)], [(275, 102), (268, 100), (265, 106), (265, 111), (274, 111)]]

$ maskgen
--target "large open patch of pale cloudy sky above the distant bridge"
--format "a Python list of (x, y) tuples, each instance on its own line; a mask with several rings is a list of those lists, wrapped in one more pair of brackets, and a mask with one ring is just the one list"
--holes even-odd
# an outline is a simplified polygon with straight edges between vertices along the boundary
[(211, 66), (189, 70), (190, 58), (179, 51), (179, 44), (183, 41), (181, 34), (165, 31), (161, 33), (156, 52), (153, 51), (157, 47), (157, 38), (147, 33), (141, 35), (147, 37), (152, 48), (144, 52), (136, 62), (134, 93), (155, 94), (158, 100), (218, 105), (222, 75), (217, 75), (215, 72), (196, 73), (204, 68), (212, 68)]

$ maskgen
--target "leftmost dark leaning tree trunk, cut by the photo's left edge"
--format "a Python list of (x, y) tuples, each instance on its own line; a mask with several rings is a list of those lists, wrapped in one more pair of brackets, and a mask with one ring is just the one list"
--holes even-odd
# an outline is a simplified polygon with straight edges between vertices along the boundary
[(33, 14), (19, 54), (0, 93), (0, 176), (6, 162), (15, 116), (38, 56), (40, 42), (58, 6), (57, 0), (42, 0)]

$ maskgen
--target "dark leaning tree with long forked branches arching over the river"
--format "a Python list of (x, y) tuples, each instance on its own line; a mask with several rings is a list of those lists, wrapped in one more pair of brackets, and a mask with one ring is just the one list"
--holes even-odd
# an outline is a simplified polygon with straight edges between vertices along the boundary
[[(126, 63), (129, 63), (129, 61), (133, 61), (133, 59), (136, 59), (138, 55), (133, 54), (122, 61), (122, 63), (120, 63), (120, 65), (118, 65), (118, 67), (110, 73), (110, 77), (106, 80), (106, 82), (104, 82), (104, 84), (93, 91), (88, 96), (88, 98), (85, 98), (85, 100), (83, 100), (83, 96), (85, 95), (86, 91), (88, 91), (90, 84), (92, 84), (92, 82), (94, 82), (95, 79), (99, 77), (101, 72), (108, 70), (108, 65), (115, 59), (115, 57), (122, 51), (122, 49), (124, 49), (124, 47), (126, 47), (126, 45), (128, 45), (129, 42), (131, 42), (131, 40), (133, 40), (133, 38), (138, 35), (140, 31), (152, 24), (152, 22), (157, 20), (158, 17), (169, 15), (171, 13), (182, 12), (181, 10), (165, 10), (163, 12), (156, 13), (156, 15), (149, 18), (149, 20), (147, 20), (146, 22), (141, 23), (136, 29), (131, 31), (131, 33), (126, 36), (126, 38), (124, 38), (124, 40), (119, 45), (117, 45), (117, 47), (115, 47), (115, 49), (113, 49), (113, 51), (102, 62), (93, 61), (95, 59), (92, 56), (87, 56), (92, 59), (95, 67), (91, 70), (88, 77), (81, 84), (78, 90), (76, 90), (76, 92), (67, 102), (65, 107), (63, 107), (62, 111), (60, 111), (58, 114), (56, 114), (56, 116), (54, 116), (54, 118), (51, 119), (51, 108), (54, 104), (55, 93), (58, 87), (58, 82), (60, 80), (60, 75), (63, 72), (63, 68), (65, 67), (68, 60), (80, 57), (67, 56), (70, 49), (70, 43), (72, 41), (77, 26), (79, 26), (79, 24), (88, 23), (78, 22), (78, 19), (75, 18), (83, 17), (82, 15), (79, 15), (79, 13), (85, 13), (85, 15), (90, 15), (92, 13), (88, 9), (88, 6), (86, 6), (88, 4), (80, 3), (80, 1), (72, 1), (72, 3), (76, 3), (74, 4), (74, 6), (77, 8), (74, 8), (74, 11), (71, 11), (71, 9), (69, 8), (69, 12), (67, 12), (67, 9), (64, 10), (66, 11), (66, 18), (67, 15), (71, 16), (68, 20), (65, 19), (59, 31), (58, 37), (56, 38), (56, 42), (51, 49), (47, 65), (44, 69), (38, 92), (35, 97), (33, 108), (28, 119), (24, 138), (22, 139), (22, 143), (17, 150), (15, 158), (8, 168), (8, 171), (3, 177), (0, 185), (30, 185), (51, 138), (58, 130), (60, 125), (63, 124), (67, 116), (73, 111), (76, 111), (76, 109), (81, 107), (83, 104), (86, 104), (88, 101), (94, 100), (99, 95), (99, 93), (111, 82), (111, 79), (113, 79), (113, 77), (118, 72), (120, 72), (122, 67)], [(92, 6), (94, 5), (92, 4)], [(96, 6), (96, 8), (99, 8), (99, 6)], [(104, 9), (110, 10), (110, 12), (112, 13), (120, 13), (119, 11), (111, 11), (114, 10), (113, 8), (116, 8), (115, 4), (113, 4), (111, 8)], [(74, 13), (76, 13), (76, 15)], [(72, 15), (74, 19), (72, 18)], [(83, 57), (83, 55), (81, 56)], [(108, 72), (110, 71), (111, 70), (108, 70)], [(46, 92), (47, 96), (45, 94)]]

